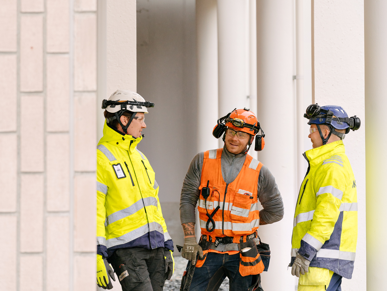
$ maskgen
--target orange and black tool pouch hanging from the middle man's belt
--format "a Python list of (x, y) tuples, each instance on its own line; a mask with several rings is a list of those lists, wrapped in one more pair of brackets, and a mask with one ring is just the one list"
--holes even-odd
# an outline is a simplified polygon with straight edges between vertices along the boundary
[[(241, 242), (239, 246), (239, 273), (241, 276), (257, 275), (263, 272), (265, 266), (258, 253), (257, 246), (253, 240)], [(242, 249), (251, 248), (243, 252)]]

